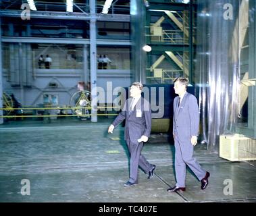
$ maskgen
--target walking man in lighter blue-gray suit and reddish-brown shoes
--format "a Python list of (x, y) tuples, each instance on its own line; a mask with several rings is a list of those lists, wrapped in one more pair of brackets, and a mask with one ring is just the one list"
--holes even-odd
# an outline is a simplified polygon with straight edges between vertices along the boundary
[(201, 165), (193, 158), (194, 146), (197, 144), (199, 131), (199, 107), (193, 94), (186, 92), (187, 78), (176, 78), (174, 90), (178, 97), (174, 99), (174, 146), (175, 146), (175, 171), (176, 186), (169, 188), (168, 192), (186, 190), (186, 165), (201, 180), (201, 189), (208, 184), (210, 173), (202, 169)]

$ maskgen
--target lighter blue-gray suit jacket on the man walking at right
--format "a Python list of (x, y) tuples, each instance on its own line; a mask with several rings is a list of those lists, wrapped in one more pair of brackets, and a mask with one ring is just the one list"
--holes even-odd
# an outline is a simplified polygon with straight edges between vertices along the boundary
[(179, 140), (190, 140), (199, 131), (199, 107), (193, 94), (186, 92), (179, 104), (179, 97), (174, 99), (173, 133)]

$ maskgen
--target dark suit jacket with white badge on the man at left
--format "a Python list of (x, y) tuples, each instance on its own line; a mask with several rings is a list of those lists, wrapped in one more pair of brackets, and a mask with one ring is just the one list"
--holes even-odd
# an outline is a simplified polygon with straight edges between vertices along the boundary
[(126, 119), (124, 140), (130, 139), (131, 142), (138, 144), (138, 139), (145, 135), (150, 136), (151, 133), (151, 107), (149, 102), (140, 97), (133, 111), (129, 115), (128, 107), (132, 98), (127, 99), (124, 103), (124, 107), (113, 121), (113, 126), (118, 126), (124, 119)]

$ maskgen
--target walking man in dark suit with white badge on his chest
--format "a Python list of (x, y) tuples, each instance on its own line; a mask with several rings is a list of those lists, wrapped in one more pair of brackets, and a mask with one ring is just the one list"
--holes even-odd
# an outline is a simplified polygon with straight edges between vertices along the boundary
[(130, 180), (124, 186), (133, 186), (138, 184), (138, 166), (148, 178), (153, 178), (155, 165), (149, 163), (141, 151), (143, 142), (147, 142), (151, 132), (151, 107), (149, 102), (141, 97), (143, 84), (134, 82), (130, 87), (130, 99), (124, 103), (122, 112), (116, 117), (109, 126), (108, 132), (113, 133), (113, 129), (126, 119), (124, 140), (130, 153)]

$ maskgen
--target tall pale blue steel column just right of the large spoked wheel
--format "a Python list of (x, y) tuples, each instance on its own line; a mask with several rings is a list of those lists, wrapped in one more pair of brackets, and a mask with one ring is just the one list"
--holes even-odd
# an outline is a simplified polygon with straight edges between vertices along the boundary
[(91, 70), (91, 121), (97, 122), (97, 47), (95, 0), (90, 0), (90, 70)]

